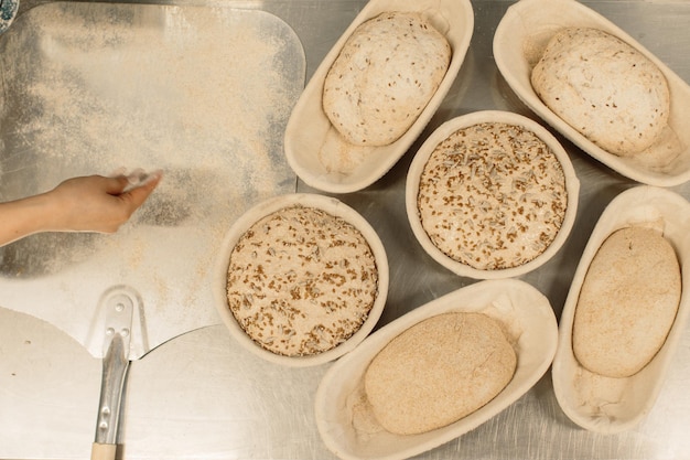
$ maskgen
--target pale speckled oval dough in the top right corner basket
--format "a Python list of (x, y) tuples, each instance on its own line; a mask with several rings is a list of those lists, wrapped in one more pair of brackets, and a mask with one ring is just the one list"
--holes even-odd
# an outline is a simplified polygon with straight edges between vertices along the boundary
[(559, 31), (535, 66), (531, 83), (556, 115), (621, 157), (650, 147), (668, 122), (670, 95), (661, 71), (597, 29)]

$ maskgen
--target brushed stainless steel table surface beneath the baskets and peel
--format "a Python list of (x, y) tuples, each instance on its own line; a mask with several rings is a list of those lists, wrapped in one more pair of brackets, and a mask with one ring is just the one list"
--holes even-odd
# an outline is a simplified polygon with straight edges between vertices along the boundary
[[(282, 19), (304, 47), (309, 79), (365, 3), (226, 1), (214, 2), (214, 7), (262, 9)], [(686, 53), (690, 49), (689, 2), (584, 3), (690, 82)], [(22, 3), (18, 21), (33, 4)], [(204, 1), (194, 4), (203, 6)], [(423, 139), (452, 117), (502, 109), (536, 119), (506, 85), (493, 61), (494, 31), (510, 4), (473, 2), (475, 30), (465, 63), (427, 130), (382, 179), (364, 191), (336, 195), (369, 221), (388, 254), (390, 291), (379, 325), (475, 282), (442, 268), (419, 246), (405, 213), (405, 182)], [(578, 217), (560, 253), (521, 277), (549, 298), (557, 315), (599, 216), (619, 192), (636, 185), (559, 139), (582, 184)], [(690, 183), (671, 190), (690, 199)], [(297, 191), (319, 193), (300, 181)], [(0, 297), (2, 304), (4, 298)], [(547, 373), (502, 414), (419, 458), (690, 459), (689, 362), (690, 330), (653, 411), (632, 431), (604, 436), (578, 428), (558, 406)], [(319, 436), (313, 415), (314, 393), (328, 366), (293, 370), (262, 362), (234, 343), (218, 319), (216, 325), (181, 335), (132, 363), (119, 439), (121, 457), (334, 459)], [(0, 458), (85, 458), (95, 429), (99, 381), (100, 362), (82, 344), (52, 324), (0, 309)]]

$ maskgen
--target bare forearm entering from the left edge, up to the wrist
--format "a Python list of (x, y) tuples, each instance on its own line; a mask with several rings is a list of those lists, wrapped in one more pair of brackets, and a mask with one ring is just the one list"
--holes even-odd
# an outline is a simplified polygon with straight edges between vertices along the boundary
[(51, 229), (50, 206), (47, 194), (0, 203), (0, 246)]

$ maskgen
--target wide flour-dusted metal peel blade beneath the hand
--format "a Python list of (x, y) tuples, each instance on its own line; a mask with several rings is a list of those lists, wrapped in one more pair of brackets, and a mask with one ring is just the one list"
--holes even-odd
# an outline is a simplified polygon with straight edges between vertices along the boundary
[(58, 2), (28, 11), (0, 40), (0, 199), (122, 168), (160, 169), (163, 180), (117, 234), (40, 234), (1, 248), (9, 307), (84, 343), (75, 319), (125, 285), (142, 297), (151, 346), (216, 323), (223, 237), (245, 210), (297, 186), (282, 138), (304, 67), (294, 33), (257, 10)]

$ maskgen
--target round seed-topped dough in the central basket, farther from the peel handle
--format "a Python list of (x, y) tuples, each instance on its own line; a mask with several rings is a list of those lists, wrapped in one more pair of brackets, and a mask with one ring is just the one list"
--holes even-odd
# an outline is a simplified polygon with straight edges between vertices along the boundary
[(418, 210), (446, 256), (497, 270), (542, 254), (568, 206), (565, 176), (551, 149), (516, 125), (485, 122), (439, 143), (422, 171)]

